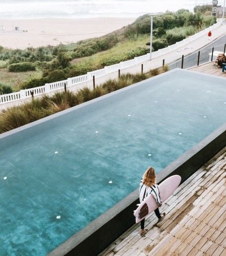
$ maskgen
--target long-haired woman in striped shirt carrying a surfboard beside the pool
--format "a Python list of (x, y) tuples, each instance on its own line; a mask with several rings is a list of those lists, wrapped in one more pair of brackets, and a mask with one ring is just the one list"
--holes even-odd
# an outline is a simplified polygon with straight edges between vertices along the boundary
[[(156, 184), (155, 170), (153, 167), (148, 167), (148, 169), (144, 173), (143, 178), (141, 179), (139, 191), (140, 191), (140, 202), (143, 202), (144, 199), (149, 194), (151, 194), (155, 198), (157, 204), (159, 206), (162, 205), (162, 201), (159, 194), (159, 188), (158, 188), (158, 185)], [(160, 222), (165, 217), (165, 212), (160, 214), (159, 208), (157, 208), (155, 210), (155, 215), (158, 217), (159, 219), (158, 221)], [(145, 219), (141, 221), (141, 232), (140, 232), (141, 236), (144, 236), (147, 232), (147, 229), (144, 229), (144, 222), (145, 222)]]

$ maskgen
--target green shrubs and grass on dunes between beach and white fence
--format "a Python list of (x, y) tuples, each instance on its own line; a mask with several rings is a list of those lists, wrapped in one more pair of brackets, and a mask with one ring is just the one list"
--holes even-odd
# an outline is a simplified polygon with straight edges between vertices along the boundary
[[(153, 51), (174, 44), (216, 23), (209, 5), (165, 12), (153, 19)], [(150, 15), (107, 35), (56, 47), (25, 50), (0, 46), (0, 83), (13, 91), (86, 74), (149, 52)], [(4, 94), (6, 90), (0, 90)]]

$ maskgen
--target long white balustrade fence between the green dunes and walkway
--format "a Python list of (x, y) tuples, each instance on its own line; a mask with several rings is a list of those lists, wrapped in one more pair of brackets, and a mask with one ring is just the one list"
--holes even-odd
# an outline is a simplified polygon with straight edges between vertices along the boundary
[[(189, 36), (188, 38), (186, 38), (180, 42), (177, 42), (176, 44), (172, 44), (166, 48), (159, 49), (158, 51), (152, 52), (151, 59), (160, 57), (163, 54), (174, 51), (175, 49), (178, 49), (179, 47), (182, 47), (183, 45), (192, 42), (193, 40), (201, 37), (202, 35), (207, 34), (209, 30), (213, 30), (213, 29), (217, 28), (218, 26), (221, 25), (221, 23), (222, 23), (222, 21), (218, 21), (216, 24), (210, 26), (209, 28), (202, 30), (196, 34), (193, 34), (192, 36)], [(150, 59), (150, 54), (148, 53), (146, 55), (135, 57), (134, 59), (131, 59), (131, 60), (122, 61), (118, 64), (114, 64), (111, 66), (106, 66), (106, 67), (104, 67), (104, 69), (98, 69), (98, 70), (94, 70), (92, 72), (88, 72), (85, 75), (68, 78), (66, 80), (51, 83), (51, 84), (45, 84), (43, 86), (35, 87), (32, 89), (20, 90), (19, 92), (12, 93), (12, 94), (3, 94), (3, 95), (0, 95), (0, 104), (14, 102), (14, 101), (22, 100), (22, 99), (26, 99), (26, 98), (31, 98), (32, 93), (34, 96), (38, 96), (41, 94), (48, 94), (50, 92), (57, 91), (59, 89), (64, 89), (65, 84), (66, 84), (66, 87), (71, 87), (76, 84), (81, 84), (86, 81), (92, 80), (93, 76), (95, 76), (95, 78), (97, 78), (97, 77), (118, 71), (118, 69), (126, 69), (129, 67), (132, 67), (136, 64), (145, 62), (149, 59)]]

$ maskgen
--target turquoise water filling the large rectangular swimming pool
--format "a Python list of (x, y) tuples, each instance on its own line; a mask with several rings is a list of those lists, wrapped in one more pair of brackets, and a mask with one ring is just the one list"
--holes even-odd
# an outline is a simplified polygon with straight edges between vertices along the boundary
[(225, 123), (226, 80), (177, 70), (71, 110), (0, 135), (0, 255), (47, 254)]

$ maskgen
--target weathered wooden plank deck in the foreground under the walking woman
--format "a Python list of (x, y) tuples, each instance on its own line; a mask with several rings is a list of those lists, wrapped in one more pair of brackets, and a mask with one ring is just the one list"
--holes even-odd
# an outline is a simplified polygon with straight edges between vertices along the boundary
[[(135, 224), (100, 256), (226, 256), (226, 148), (207, 162), (160, 208), (166, 216)], [(116, 227), (117, 228), (117, 227)], [(107, 234), (106, 234), (107, 235)]]

